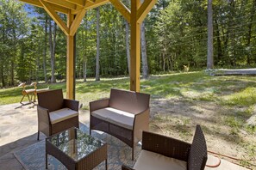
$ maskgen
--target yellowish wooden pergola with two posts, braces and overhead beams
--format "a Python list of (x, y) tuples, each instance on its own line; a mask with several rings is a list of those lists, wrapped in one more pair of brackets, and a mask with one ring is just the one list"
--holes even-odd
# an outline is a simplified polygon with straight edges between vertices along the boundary
[[(113, 6), (130, 23), (131, 29), (131, 58), (130, 58), (130, 90), (140, 91), (140, 23), (153, 8), (157, 0), (131, 0), (131, 9), (128, 9), (121, 0), (20, 0), (47, 11), (61, 30), (66, 34), (66, 98), (75, 98), (74, 75), (74, 35), (87, 10), (97, 8), (105, 3)], [(67, 15), (63, 21), (57, 12)]]

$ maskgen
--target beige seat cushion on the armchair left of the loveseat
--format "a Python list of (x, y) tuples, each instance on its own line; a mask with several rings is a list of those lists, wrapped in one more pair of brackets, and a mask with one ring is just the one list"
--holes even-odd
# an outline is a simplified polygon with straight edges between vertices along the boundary
[(52, 124), (56, 124), (63, 120), (66, 120), (68, 118), (73, 118), (76, 116), (78, 116), (78, 112), (73, 111), (70, 108), (63, 108), (57, 111), (50, 112), (50, 120)]

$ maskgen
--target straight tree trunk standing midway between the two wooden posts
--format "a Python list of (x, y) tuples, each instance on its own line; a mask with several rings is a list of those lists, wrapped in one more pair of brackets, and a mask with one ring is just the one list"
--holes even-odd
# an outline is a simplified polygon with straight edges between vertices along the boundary
[(99, 19), (100, 19), (100, 11), (99, 7), (97, 7), (97, 54), (96, 54), (96, 75), (95, 79), (96, 81), (100, 81), (99, 77), (99, 70), (100, 70), (100, 65), (99, 65), (99, 52), (100, 52), (100, 39), (99, 39)]

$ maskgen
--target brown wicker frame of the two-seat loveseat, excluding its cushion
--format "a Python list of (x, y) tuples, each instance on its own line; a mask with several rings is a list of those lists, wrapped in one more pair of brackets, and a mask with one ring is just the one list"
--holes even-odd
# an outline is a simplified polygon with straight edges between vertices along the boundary
[(149, 124), (149, 94), (136, 93), (132, 91), (111, 89), (109, 99), (90, 102), (90, 112), (112, 107), (124, 112), (134, 113), (134, 126), (132, 130), (126, 129), (117, 124), (111, 124), (106, 119), (96, 118), (91, 114), (91, 130), (104, 131), (117, 137), (123, 143), (132, 148), (132, 160), (134, 160), (134, 145), (142, 138), (142, 131), (148, 130)]

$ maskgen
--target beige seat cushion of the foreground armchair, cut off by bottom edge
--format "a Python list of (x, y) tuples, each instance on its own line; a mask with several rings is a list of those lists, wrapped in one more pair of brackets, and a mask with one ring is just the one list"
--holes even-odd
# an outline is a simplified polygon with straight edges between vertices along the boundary
[(185, 170), (187, 163), (147, 150), (141, 150), (134, 165), (136, 170)]

